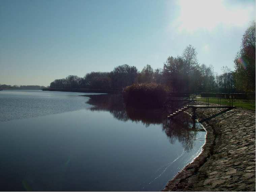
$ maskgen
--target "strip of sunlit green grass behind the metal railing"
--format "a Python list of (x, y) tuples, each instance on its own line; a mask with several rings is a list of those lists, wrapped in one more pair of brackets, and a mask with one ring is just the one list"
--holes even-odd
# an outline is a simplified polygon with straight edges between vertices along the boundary
[[(206, 102), (205, 98), (197, 98), (197, 101)], [(231, 101), (231, 100), (230, 100)], [(218, 104), (218, 99), (209, 98), (209, 103)], [(221, 105), (232, 105), (229, 103), (229, 99), (221, 99)], [(237, 108), (244, 108), (249, 110), (255, 110), (255, 100), (233, 100), (233, 106)]]

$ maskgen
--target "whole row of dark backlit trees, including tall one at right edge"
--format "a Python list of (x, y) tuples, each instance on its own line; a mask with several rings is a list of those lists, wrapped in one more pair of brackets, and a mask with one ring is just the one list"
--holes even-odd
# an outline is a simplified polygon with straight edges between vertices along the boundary
[(153, 69), (146, 65), (138, 71), (135, 66), (124, 64), (111, 72), (91, 72), (84, 77), (69, 75), (56, 79), (50, 88), (122, 90), (134, 83), (158, 83), (178, 92), (255, 92), (255, 23), (243, 36), (234, 66), (234, 71), (222, 67), (223, 73), (218, 75), (212, 65), (198, 63), (197, 51), (189, 45), (182, 55), (169, 56), (163, 68)]

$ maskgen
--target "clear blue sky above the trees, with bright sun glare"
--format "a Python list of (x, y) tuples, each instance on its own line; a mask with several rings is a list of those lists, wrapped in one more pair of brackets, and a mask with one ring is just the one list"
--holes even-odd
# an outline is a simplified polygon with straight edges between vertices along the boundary
[(162, 68), (190, 44), (221, 74), (252, 22), (255, 0), (0, 0), (0, 84)]

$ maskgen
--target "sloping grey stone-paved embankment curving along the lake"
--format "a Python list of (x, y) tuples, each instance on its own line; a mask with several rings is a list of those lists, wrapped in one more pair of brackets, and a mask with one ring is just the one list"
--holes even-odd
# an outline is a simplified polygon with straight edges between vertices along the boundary
[[(163, 191), (255, 191), (255, 111), (197, 109), (207, 131), (203, 152)], [(213, 118), (209, 118), (209, 117)]]

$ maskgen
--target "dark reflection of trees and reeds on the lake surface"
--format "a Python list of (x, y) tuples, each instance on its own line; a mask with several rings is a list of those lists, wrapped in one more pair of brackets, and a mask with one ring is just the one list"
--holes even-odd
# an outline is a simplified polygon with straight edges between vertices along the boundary
[(116, 119), (121, 121), (131, 120), (135, 123), (142, 123), (146, 127), (150, 125), (161, 125), (162, 130), (168, 136), (171, 144), (178, 140), (185, 151), (189, 152), (194, 147), (196, 139), (196, 129), (202, 128), (196, 123), (195, 129), (193, 121), (187, 113), (181, 113), (175, 118), (168, 120), (163, 109), (145, 109), (126, 106), (121, 94), (98, 94), (85, 95), (89, 97), (88, 104), (92, 105), (91, 111), (108, 111)]

